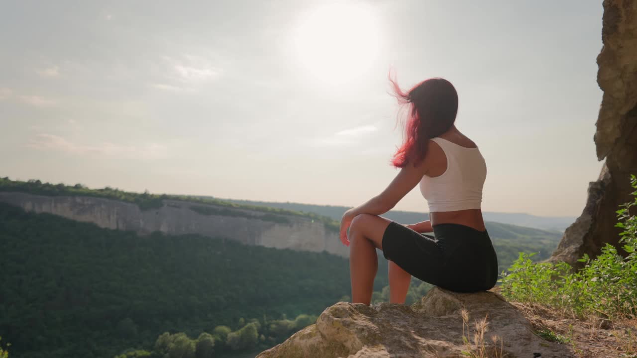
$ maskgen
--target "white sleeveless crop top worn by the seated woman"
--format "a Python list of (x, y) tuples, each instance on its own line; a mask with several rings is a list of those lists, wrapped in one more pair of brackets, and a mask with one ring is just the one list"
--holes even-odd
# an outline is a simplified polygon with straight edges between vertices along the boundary
[(429, 212), (480, 209), (487, 165), (478, 148), (466, 148), (443, 138), (431, 138), (447, 156), (447, 170), (433, 178), (422, 176), (420, 192)]

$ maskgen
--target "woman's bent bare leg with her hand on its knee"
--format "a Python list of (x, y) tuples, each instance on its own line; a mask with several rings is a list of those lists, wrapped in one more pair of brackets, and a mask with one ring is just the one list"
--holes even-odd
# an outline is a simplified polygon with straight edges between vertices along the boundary
[(383, 234), (390, 220), (376, 215), (361, 214), (352, 220), (350, 240), (350, 279), (352, 303), (371, 303), (374, 278), (378, 271), (376, 248), (382, 250)]

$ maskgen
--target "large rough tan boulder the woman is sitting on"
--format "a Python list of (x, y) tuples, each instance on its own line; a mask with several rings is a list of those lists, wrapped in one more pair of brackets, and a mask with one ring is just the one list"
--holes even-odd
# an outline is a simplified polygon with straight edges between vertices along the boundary
[[(469, 327), (463, 324), (463, 309)], [(257, 358), (465, 357), (463, 326), (464, 335), (473, 342), (475, 321), (485, 317), (485, 347), (497, 346), (497, 354), (490, 351), (488, 357), (500, 357), (500, 342), (503, 355), (510, 358), (532, 357), (535, 352), (544, 358), (575, 357), (568, 346), (536, 336), (522, 313), (496, 293), (461, 294), (434, 287), (412, 306), (336, 303), (323, 311), (316, 324)], [(493, 336), (501, 339), (497, 345)]]

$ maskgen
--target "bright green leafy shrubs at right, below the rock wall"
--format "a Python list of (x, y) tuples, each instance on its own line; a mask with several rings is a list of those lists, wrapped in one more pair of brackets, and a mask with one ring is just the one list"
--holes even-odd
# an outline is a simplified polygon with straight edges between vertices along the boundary
[(573, 272), (565, 262), (533, 264), (531, 255), (520, 254), (503, 273), (502, 294), (515, 301), (540, 303), (579, 317), (635, 317), (637, 315), (637, 217), (630, 210), (637, 206), (637, 178), (631, 176), (636, 189), (634, 201), (617, 210), (623, 229), (619, 242), (627, 252), (622, 257), (617, 248), (606, 243), (595, 259), (584, 255), (584, 268)]

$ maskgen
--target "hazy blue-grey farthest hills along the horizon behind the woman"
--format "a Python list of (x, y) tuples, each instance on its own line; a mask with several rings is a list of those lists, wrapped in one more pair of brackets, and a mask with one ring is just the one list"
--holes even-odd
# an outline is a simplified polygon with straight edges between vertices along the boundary
[[(202, 197), (204, 198), (204, 196)], [(206, 197), (212, 198), (212, 197)], [(218, 198), (215, 198), (218, 199)], [(317, 213), (326, 217), (331, 217), (334, 220), (340, 220), (348, 210), (346, 206), (331, 206), (331, 205), (315, 205), (315, 204), (300, 204), (300, 203), (275, 203), (271, 201), (250, 201), (250, 200), (236, 200), (236, 199), (218, 199), (224, 201), (230, 201), (236, 204), (245, 204), (252, 206), (268, 206), (270, 208), (280, 208), (285, 210), (303, 211), (308, 213)], [(415, 211), (399, 211), (392, 210), (389, 213), (383, 215), (392, 220), (396, 220), (401, 224), (411, 224), (413, 222), (419, 222), (427, 220), (429, 214), (417, 213)], [(486, 221), (501, 222), (503, 224), (511, 224), (517, 226), (534, 227), (536, 229), (548, 230), (548, 231), (560, 231), (564, 232), (566, 228), (575, 222), (575, 217), (540, 217), (537, 215), (525, 214), (525, 213), (497, 213), (492, 211), (483, 212), (483, 217)]]

